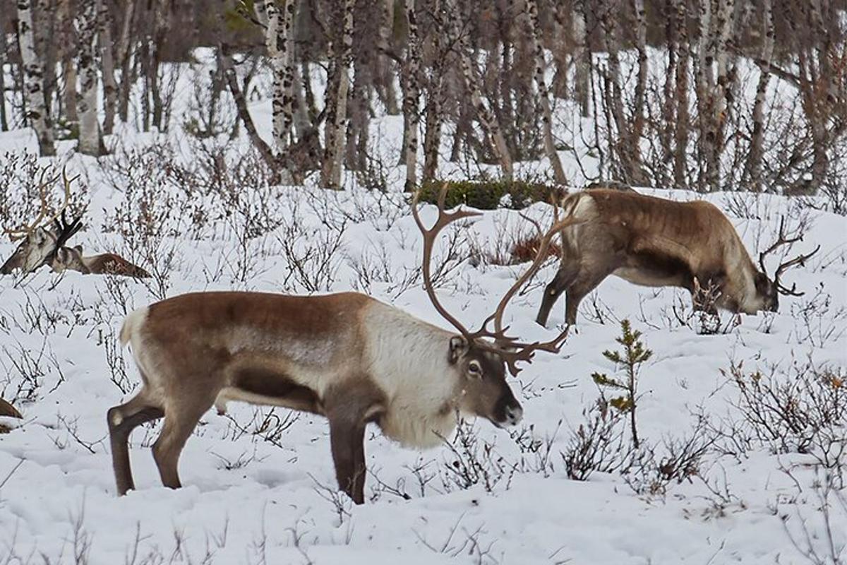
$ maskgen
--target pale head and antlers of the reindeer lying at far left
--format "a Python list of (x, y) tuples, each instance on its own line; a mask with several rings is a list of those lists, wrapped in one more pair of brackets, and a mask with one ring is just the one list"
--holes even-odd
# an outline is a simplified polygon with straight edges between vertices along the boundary
[[(51, 179), (44, 180), (45, 174), (47, 174), (47, 169), (42, 169), (41, 178), (38, 181), (42, 209), (38, 213), (36, 220), (19, 230), (6, 230), (6, 233), (8, 233), (13, 241), (22, 241), (18, 248), (14, 250), (12, 256), (6, 260), (6, 263), (0, 266), (0, 274), (10, 274), (14, 269), (20, 269), (25, 274), (31, 273), (42, 265), (52, 263), (56, 251), (61, 246), (64, 246), (82, 228), (80, 218), (69, 223), (65, 217), (65, 210), (68, 208), (70, 201), (70, 183), (74, 179), (68, 180), (64, 169), (61, 174), (64, 181), (64, 203), (52, 218), (44, 221), (44, 218), (47, 216), (47, 198), (44, 195), (44, 191), (47, 186), (53, 185), (59, 178), (57, 175)], [(47, 228), (46, 226), (50, 224), (52, 226)]]

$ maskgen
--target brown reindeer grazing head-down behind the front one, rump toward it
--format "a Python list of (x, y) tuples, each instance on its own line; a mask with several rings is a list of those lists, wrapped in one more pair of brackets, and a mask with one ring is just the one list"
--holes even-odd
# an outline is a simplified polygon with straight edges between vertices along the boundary
[(610, 274), (636, 285), (682, 287), (691, 292), (695, 308), (776, 312), (778, 294), (800, 294), (795, 286), (780, 285), (780, 275), (820, 249), (783, 263), (770, 280), (765, 256), (800, 240), (786, 238), (783, 224), (779, 240), (761, 253), (760, 271), (733, 224), (709, 202), (598, 188), (565, 197), (562, 207), (583, 222), (562, 231), (562, 263), (545, 288), (536, 319), (541, 325), (562, 292), (567, 292), (565, 321), (575, 324), (579, 302)]

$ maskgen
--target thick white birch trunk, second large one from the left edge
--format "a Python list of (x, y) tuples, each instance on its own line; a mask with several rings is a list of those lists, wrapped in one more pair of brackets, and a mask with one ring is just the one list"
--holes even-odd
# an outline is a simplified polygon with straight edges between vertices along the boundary
[(80, 94), (76, 102), (76, 111), (80, 116), (79, 151), (95, 157), (106, 152), (97, 119), (97, 60), (94, 57), (99, 4), (99, 0), (80, 0), (80, 12), (76, 19), (77, 34), (80, 37)]

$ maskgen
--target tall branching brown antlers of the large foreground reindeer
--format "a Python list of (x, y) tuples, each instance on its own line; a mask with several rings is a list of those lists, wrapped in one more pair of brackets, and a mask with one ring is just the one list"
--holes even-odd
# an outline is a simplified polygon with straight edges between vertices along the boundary
[[(570, 329), (570, 326), (566, 326), (565, 330), (562, 331), (561, 334), (557, 335), (551, 341), (535, 341), (533, 343), (523, 343), (518, 341), (516, 338), (510, 337), (506, 335), (508, 327), (503, 327), (503, 313), (506, 311), (507, 304), (510, 300), (512, 300), (512, 296), (520, 289), (530, 277), (532, 277), (535, 272), (540, 268), (541, 264), (544, 263), (547, 258), (547, 248), (550, 246), (550, 242), (554, 235), (564, 230), (570, 225), (579, 223), (580, 220), (573, 217), (573, 213), (568, 214), (565, 219), (558, 220), (554, 222), (553, 226), (550, 230), (541, 236), (540, 244), (538, 252), (535, 254), (535, 258), (533, 263), (529, 266), (514, 285), (506, 292), (505, 295), (501, 298), (500, 302), (497, 304), (495, 312), (491, 314), (488, 318), (486, 318), (479, 328), (474, 332), (469, 332), (462, 324), (455, 319), (451, 313), (446, 311), (446, 308), (443, 307), (440, 302), (438, 302), (438, 298), (435, 296), (435, 289), (432, 285), (432, 280), (429, 278), (429, 261), (432, 258), (432, 246), (435, 241), (435, 236), (438, 235), (438, 232), (444, 228), (447, 224), (456, 221), (457, 219), (468, 218), (473, 216), (479, 216), (478, 212), (468, 212), (458, 210), (456, 212), (445, 212), (444, 210), (444, 201), (446, 197), (447, 186), (446, 183), (441, 186), (441, 190), (438, 197), (438, 219), (435, 220), (435, 224), (432, 228), (427, 230), (424, 228), (424, 224), (421, 222), (420, 217), (418, 216), (418, 196), (419, 191), (415, 193), (415, 196), (412, 200), (412, 215), (415, 218), (415, 222), (418, 224), (418, 228), (421, 230), (421, 233), (424, 235), (424, 265), (423, 265), (423, 274), (424, 274), (424, 287), (426, 288), (427, 294), (429, 295), (429, 300), (433, 302), (435, 309), (453, 326), (459, 330), (459, 332), (467, 339), (468, 341), (474, 341), (477, 346), (487, 351), (493, 352), (501, 359), (507, 363), (509, 368), (509, 372), (512, 376), (517, 376), (520, 372), (520, 368), (518, 368), (517, 363), (519, 361), (531, 362), (534, 353), (538, 350), (557, 353), (562, 348), (562, 343), (567, 338), (567, 332)], [(489, 330), (488, 325), (491, 322), (494, 322), (494, 330)], [(490, 338), (493, 342), (484, 341), (482, 338)]]

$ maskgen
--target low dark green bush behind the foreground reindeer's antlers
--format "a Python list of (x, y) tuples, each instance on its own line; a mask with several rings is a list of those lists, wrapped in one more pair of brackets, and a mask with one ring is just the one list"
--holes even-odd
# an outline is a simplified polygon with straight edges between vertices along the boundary
[[(435, 204), (443, 180), (433, 180), (421, 186), (420, 200)], [(565, 191), (556, 186), (541, 185), (523, 180), (448, 180), (445, 207), (453, 208), (465, 204), (480, 210), (500, 208), (503, 197), (510, 196), (508, 208), (520, 210), (533, 202), (550, 202), (551, 197), (560, 199)]]

